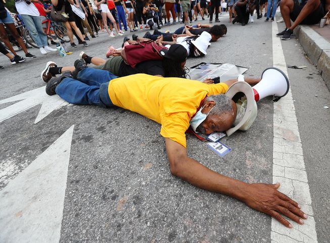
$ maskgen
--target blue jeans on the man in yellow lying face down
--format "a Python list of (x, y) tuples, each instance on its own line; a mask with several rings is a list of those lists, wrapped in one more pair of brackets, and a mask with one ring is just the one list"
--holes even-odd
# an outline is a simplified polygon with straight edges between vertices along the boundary
[(66, 77), (56, 87), (55, 92), (65, 101), (79, 105), (111, 107), (108, 86), (110, 80), (117, 78), (109, 71), (84, 68), (78, 72), (78, 80)]

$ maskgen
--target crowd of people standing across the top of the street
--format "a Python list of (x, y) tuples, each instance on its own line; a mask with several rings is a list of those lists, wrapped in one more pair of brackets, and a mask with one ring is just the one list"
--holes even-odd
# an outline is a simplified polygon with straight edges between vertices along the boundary
[[(0, 52), (6, 55), (12, 64), (22, 63), (27, 58), (35, 58), (36, 56), (28, 52), (26, 43), (21, 37), (17, 27), (17, 20), (24, 22), (25, 28), (28, 29), (35, 45), (39, 48), (42, 55), (50, 52), (58, 51), (50, 45), (57, 45), (57, 42), (46, 34), (47, 24), (45, 20), (60, 22), (65, 26), (67, 36), (70, 40), (70, 46), (76, 48), (74, 42), (75, 36), (78, 40), (78, 45), (88, 47), (87, 41), (89, 38), (96, 38), (99, 32), (107, 32), (110, 37), (116, 35), (122, 36), (125, 31), (136, 32), (140, 29), (161, 29), (161, 26), (182, 23), (184, 26), (191, 26), (186, 29), (181, 27), (178, 33), (193, 35), (191, 38), (197, 38), (203, 31), (196, 31), (196, 24), (193, 22), (198, 20), (198, 17), (205, 20), (209, 18), (209, 22), (220, 22), (219, 15), (222, 11), (229, 12), (229, 22), (232, 24), (241, 23), (246, 25), (248, 22), (254, 22), (253, 15), (256, 11), (257, 19), (266, 17), (265, 22), (274, 20), (274, 15), (277, 7), (281, 5), (281, 12), (287, 11), (287, 5), (290, 7), (291, 0), (16, 0), (15, 7), (17, 15), (10, 12), (5, 5), (4, 0), (0, 0)], [(319, 17), (327, 9), (328, 0), (309, 0), (303, 1), (306, 5), (315, 5), (312, 12), (316, 12), (309, 22), (319, 21)], [(289, 13), (285, 18), (286, 25), (289, 26), (288, 18), (293, 15), (298, 17), (300, 11), (305, 6), (304, 3), (295, 4), (293, 13)], [(318, 7), (320, 6), (320, 7)], [(311, 10), (309, 8), (309, 10)], [(290, 9), (291, 11), (291, 9)], [(303, 11), (306, 15), (305, 11)], [(79, 14), (80, 13), (80, 14)], [(283, 13), (282, 13), (283, 15)], [(284, 12), (284, 15), (287, 15)], [(306, 15), (307, 16), (307, 15)], [(305, 17), (306, 17), (305, 16)], [(309, 16), (307, 16), (309, 17)], [(290, 20), (290, 19), (289, 19)], [(309, 23), (308, 22), (308, 23)], [(205, 26), (204, 26), (205, 27)], [(208, 28), (212, 27), (206, 26)], [(295, 27), (295, 24), (294, 24)], [(203, 27), (198, 27), (203, 28)], [(290, 39), (293, 33), (292, 29), (278, 33), (282, 39)], [(87, 31), (86, 31), (87, 30)], [(180, 32), (182, 31), (182, 32)], [(213, 28), (213, 31), (218, 36), (226, 33), (226, 29), (220, 30)], [(16, 45), (24, 51), (25, 57), (17, 55), (10, 39), (8, 32), (11, 33), (12, 39), (15, 39)], [(194, 34), (198, 32), (197, 36)], [(288, 33), (285, 33), (288, 32)], [(164, 36), (164, 41), (167, 39), (176, 40), (176, 37), (167, 33), (159, 32)], [(155, 39), (160, 34), (156, 33), (148, 35), (147, 38)], [(88, 36), (89, 34), (89, 36)], [(167, 35), (167, 36), (166, 36)], [(137, 36), (137, 35), (135, 35)], [(156, 36), (156, 37), (155, 37)], [(195, 37), (194, 37), (195, 36)], [(144, 36), (146, 37), (146, 36)], [(179, 36), (178, 39), (183, 36)], [(134, 38), (134, 36), (133, 36)], [(137, 37), (135, 37), (137, 39)], [(194, 41), (194, 39), (192, 39)], [(193, 53), (193, 52), (192, 52)], [(108, 57), (108, 55), (107, 55)], [(0, 66), (1, 68), (1, 66)]]

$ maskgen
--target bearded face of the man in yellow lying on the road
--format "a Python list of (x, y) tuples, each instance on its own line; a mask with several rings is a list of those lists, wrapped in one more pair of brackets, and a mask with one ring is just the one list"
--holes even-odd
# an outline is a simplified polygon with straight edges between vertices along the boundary
[(209, 114), (206, 119), (196, 129), (198, 132), (209, 135), (214, 132), (223, 132), (231, 128), (236, 118), (237, 107), (232, 101), (233, 109), (221, 115)]

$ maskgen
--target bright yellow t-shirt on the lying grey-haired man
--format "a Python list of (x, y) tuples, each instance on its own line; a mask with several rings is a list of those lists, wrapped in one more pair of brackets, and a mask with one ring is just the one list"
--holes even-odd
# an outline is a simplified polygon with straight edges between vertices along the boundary
[(108, 92), (114, 105), (146, 116), (162, 125), (160, 134), (186, 147), (185, 131), (202, 100), (223, 94), (226, 84), (133, 74), (111, 80)]

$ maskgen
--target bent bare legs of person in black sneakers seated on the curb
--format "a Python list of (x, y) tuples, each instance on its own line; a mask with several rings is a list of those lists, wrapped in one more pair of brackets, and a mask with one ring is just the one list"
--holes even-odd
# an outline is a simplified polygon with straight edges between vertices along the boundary
[(281, 0), (280, 11), (282, 18), (288, 29), (294, 30), (298, 24), (300, 24), (308, 15), (313, 13), (320, 5), (320, 0), (308, 0), (306, 5), (300, 11), (297, 19), (291, 24), (290, 13), (293, 11), (294, 2), (293, 0)]

